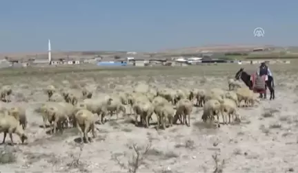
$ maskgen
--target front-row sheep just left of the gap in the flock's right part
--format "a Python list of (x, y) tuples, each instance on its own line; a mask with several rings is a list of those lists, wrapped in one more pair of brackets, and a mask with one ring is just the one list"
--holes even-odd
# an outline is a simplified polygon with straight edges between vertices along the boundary
[[(181, 124), (186, 124), (186, 126), (190, 126), (190, 113), (192, 113), (192, 102), (188, 99), (181, 99), (176, 104), (176, 114), (173, 122), (177, 122), (179, 119)], [(182, 116), (183, 115), (183, 116)], [(188, 115), (188, 121), (186, 120), (186, 116)]]

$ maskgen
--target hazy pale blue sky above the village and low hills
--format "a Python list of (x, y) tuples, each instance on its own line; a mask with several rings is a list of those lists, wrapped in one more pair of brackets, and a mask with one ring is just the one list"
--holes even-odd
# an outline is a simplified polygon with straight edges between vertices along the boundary
[[(0, 52), (298, 45), (298, 1), (1, 1)], [(253, 35), (265, 30), (263, 38)]]

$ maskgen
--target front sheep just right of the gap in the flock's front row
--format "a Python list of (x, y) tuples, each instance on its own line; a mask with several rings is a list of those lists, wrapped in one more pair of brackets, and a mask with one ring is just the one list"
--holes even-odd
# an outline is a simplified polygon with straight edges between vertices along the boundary
[[(213, 121), (215, 115), (217, 115), (217, 126), (219, 127), (219, 113), (221, 113), (220, 111), (221, 111), (221, 103), (219, 102), (219, 100), (215, 100), (215, 99), (208, 100), (203, 106), (203, 115), (201, 119), (203, 119), (203, 122), (206, 122), (208, 118)], [(224, 119), (224, 116), (223, 115), (221, 116)]]

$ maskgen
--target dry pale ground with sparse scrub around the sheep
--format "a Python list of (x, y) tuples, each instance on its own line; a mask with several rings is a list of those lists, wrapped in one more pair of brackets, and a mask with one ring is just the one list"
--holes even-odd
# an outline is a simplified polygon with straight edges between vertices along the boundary
[[(253, 65), (244, 66), (247, 71)], [(166, 130), (135, 127), (129, 118), (97, 125), (97, 138), (77, 143), (76, 129), (63, 135), (47, 135), (39, 128), (41, 117), (34, 113), (46, 100), (43, 88), (87, 86), (97, 93), (131, 89), (138, 81), (174, 88), (228, 89), (227, 78), (239, 65), (197, 67), (140, 67), (121, 69), (15, 69), (0, 71), (1, 83), (11, 84), (10, 104), (26, 106), (27, 145), (0, 146), (1, 172), (128, 172), (140, 150), (138, 172), (214, 172), (217, 156), (224, 172), (298, 172), (297, 72), (295, 65), (271, 65), (275, 76), (276, 100), (262, 100), (254, 108), (240, 108), (241, 124), (208, 128), (201, 123), (201, 108), (195, 108), (191, 126)], [(115, 119), (115, 116), (112, 117)], [(3, 134), (0, 135), (2, 139)], [(9, 137), (6, 139), (10, 142)], [(19, 137), (14, 136), (19, 142)], [(144, 148), (151, 143), (150, 148)], [(138, 149), (141, 148), (141, 149)], [(143, 154), (146, 152), (146, 154)], [(11, 163), (10, 163), (11, 162)], [(295, 164), (296, 163), (296, 164)]]

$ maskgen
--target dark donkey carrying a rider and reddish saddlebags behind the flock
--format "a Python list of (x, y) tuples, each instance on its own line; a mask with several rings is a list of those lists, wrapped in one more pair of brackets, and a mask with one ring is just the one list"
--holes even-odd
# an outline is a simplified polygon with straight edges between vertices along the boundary
[[(241, 80), (246, 84), (246, 86), (252, 90), (252, 81), (250, 80), (250, 75), (244, 71), (244, 68), (239, 69), (239, 71), (235, 75), (235, 79)], [(272, 76), (268, 76), (268, 80), (265, 82), (265, 89), (267, 90), (267, 87), (270, 91), (270, 100), (275, 99), (275, 89), (274, 89), (274, 80)], [(260, 95), (262, 97), (262, 95)], [(266, 94), (264, 94), (264, 98), (266, 98)]]

